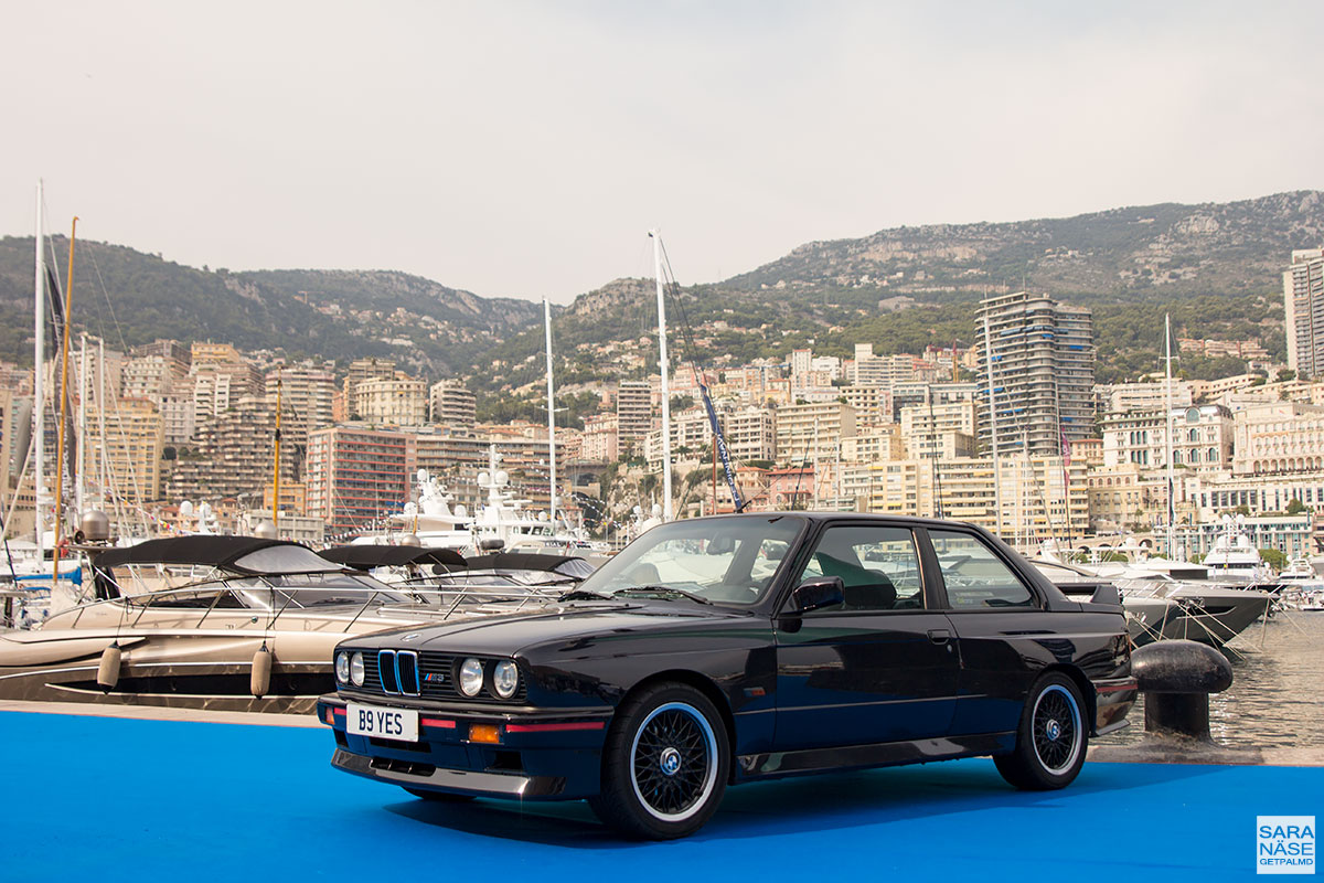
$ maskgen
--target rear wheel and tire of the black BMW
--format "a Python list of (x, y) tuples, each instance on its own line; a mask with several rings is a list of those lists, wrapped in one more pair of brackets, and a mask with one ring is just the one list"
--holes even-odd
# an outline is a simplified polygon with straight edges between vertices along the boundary
[(1090, 743), (1090, 724), (1080, 688), (1050, 671), (1030, 687), (1016, 732), (1016, 748), (993, 763), (1021, 790), (1066, 788), (1080, 773)]

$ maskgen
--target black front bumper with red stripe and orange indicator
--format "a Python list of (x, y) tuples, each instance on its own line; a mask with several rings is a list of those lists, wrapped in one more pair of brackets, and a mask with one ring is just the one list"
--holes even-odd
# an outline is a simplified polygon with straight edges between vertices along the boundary
[[(610, 711), (442, 711), (380, 699), (371, 704), (418, 711), (418, 741), (350, 733), (347, 702), (322, 696), (318, 719), (335, 732), (336, 769), (414, 790), (479, 797), (577, 800), (598, 793)], [(473, 737), (477, 727), (487, 728), (487, 740)]]

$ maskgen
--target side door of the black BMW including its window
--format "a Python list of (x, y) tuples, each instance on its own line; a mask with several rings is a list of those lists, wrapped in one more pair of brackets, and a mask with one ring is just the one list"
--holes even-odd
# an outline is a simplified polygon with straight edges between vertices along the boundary
[(945, 735), (957, 653), (947, 617), (925, 600), (914, 532), (830, 524), (794, 585), (817, 576), (839, 576), (843, 602), (777, 621), (777, 749)]

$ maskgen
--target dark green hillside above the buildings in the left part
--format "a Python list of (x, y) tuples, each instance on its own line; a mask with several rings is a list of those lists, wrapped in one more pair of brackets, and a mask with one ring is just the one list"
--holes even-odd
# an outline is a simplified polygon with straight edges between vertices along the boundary
[[(32, 238), (0, 240), (0, 359), (30, 364)], [(64, 277), (68, 240), (52, 240)], [(78, 242), (74, 319), (111, 346), (221, 340), (295, 357), (392, 357), (454, 376), (515, 328), (527, 301), (489, 299), (393, 271), (195, 269), (120, 245)], [(334, 304), (334, 306), (332, 306)]]

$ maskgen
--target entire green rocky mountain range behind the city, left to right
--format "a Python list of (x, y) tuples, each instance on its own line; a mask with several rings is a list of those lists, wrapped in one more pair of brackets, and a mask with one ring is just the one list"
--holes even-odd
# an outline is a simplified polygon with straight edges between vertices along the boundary
[[(1280, 271), (1294, 248), (1320, 242), (1324, 199), (1315, 191), (880, 230), (682, 289), (670, 307), (671, 347), (678, 363), (720, 367), (805, 346), (847, 356), (855, 343), (884, 355), (969, 344), (985, 291), (1030, 287), (1094, 308), (1100, 380), (1157, 367), (1164, 311), (1178, 335), (1259, 338), (1282, 357)], [(65, 241), (53, 250), (66, 254)], [(673, 257), (683, 281), (685, 256)], [(532, 406), (543, 376), (542, 310), (530, 301), (385, 270), (195, 269), (101, 242), (79, 242), (77, 258), (75, 316), (111, 346), (168, 336), (342, 364), (392, 357), (428, 379), (467, 377), (494, 417), (520, 413), (510, 393)], [(30, 363), (30, 293), (32, 240), (0, 240), (0, 359)], [(555, 314), (557, 384), (584, 408), (594, 384), (654, 368), (651, 281), (617, 279)], [(1237, 365), (1188, 359), (1182, 369)]]

